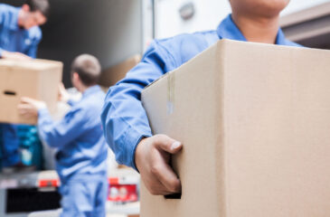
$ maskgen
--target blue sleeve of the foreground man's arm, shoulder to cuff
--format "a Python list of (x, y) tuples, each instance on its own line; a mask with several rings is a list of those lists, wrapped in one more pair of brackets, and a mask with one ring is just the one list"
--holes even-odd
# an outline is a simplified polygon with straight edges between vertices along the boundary
[(152, 136), (141, 91), (173, 66), (173, 56), (155, 41), (137, 67), (108, 90), (101, 120), (108, 145), (119, 164), (137, 169), (134, 159), (137, 144), (141, 138)]

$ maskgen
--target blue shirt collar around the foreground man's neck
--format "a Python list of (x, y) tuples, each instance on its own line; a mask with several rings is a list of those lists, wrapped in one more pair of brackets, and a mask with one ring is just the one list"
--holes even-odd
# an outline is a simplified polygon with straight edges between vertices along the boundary
[[(217, 33), (220, 39), (231, 39), (231, 40), (243, 41), (243, 42), (247, 41), (244, 35), (240, 32), (239, 27), (237, 27), (237, 25), (233, 22), (231, 18), (231, 14), (229, 14), (218, 26)], [(279, 45), (287, 44), (287, 39), (280, 28), (278, 29), (276, 44)]]

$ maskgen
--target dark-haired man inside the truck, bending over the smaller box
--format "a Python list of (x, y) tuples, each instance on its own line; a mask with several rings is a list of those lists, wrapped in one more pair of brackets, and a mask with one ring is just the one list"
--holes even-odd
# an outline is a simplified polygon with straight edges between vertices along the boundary
[[(48, 0), (27, 0), (22, 7), (0, 4), (0, 57), (29, 60), (36, 57), (42, 39), (39, 25), (45, 24), (49, 15)], [(0, 124), (2, 130), (3, 171), (11, 173), (31, 169), (21, 163), (17, 126)]]

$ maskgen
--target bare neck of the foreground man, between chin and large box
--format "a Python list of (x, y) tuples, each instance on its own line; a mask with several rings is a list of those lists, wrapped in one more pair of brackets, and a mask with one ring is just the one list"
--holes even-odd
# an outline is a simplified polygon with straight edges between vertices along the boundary
[(248, 42), (276, 43), (278, 35), (278, 16), (248, 17), (232, 14), (234, 23)]

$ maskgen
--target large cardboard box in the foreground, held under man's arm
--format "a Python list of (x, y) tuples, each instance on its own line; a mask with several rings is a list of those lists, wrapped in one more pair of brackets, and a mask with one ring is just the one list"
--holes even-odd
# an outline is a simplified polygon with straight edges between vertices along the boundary
[(183, 142), (181, 199), (142, 184), (142, 217), (330, 216), (330, 52), (222, 40), (142, 93)]

